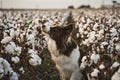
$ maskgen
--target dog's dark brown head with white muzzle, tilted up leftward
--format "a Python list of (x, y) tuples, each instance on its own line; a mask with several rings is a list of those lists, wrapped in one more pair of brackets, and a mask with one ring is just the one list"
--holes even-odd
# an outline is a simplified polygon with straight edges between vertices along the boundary
[(64, 43), (66, 43), (72, 30), (73, 30), (73, 24), (68, 24), (66, 26), (55, 26), (55, 27), (48, 27), (45, 25), (42, 26), (43, 34), (48, 38), (56, 41), (57, 45), (63, 45)]

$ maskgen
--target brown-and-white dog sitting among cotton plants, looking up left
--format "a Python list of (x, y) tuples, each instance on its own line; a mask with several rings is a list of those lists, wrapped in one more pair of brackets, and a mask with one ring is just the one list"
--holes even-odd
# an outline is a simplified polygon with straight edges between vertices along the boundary
[(48, 38), (48, 50), (60, 72), (61, 80), (87, 80), (78, 63), (79, 47), (71, 36), (74, 27), (74, 23), (70, 22), (71, 16), (70, 13), (66, 19), (69, 23), (67, 25), (49, 28), (43, 25), (41, 30)]

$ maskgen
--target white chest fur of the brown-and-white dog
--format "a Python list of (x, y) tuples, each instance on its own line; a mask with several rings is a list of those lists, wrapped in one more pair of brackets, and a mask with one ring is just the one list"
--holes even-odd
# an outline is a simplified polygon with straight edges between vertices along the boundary
[(80, 52), (78, 46), (73, 49), (70, 56), (59, 54), (54, 40), (49, 39), (48, 49), (51, 53), (52, 60), (56, 63), (56, 67), (64, 77), (70, 77), (72, 73), (79, 69), (78, 60)]

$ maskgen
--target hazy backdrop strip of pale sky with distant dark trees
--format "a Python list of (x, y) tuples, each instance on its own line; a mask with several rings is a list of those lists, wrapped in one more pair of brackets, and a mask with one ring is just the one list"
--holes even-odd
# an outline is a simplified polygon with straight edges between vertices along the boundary
[(120, 0), (0, 0), (1, 9), (120, 8)]

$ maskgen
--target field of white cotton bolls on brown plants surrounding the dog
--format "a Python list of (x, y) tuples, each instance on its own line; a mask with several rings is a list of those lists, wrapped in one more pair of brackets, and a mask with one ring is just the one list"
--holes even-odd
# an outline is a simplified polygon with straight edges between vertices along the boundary
[[(65, 23), (66, 12), (0, 11), (0, 80), (59, 80), (41, 26)], [(72, 14), (74, 38), (85, 53), (80, 68), (89, 80), (120, 80), (120, 9)]]

